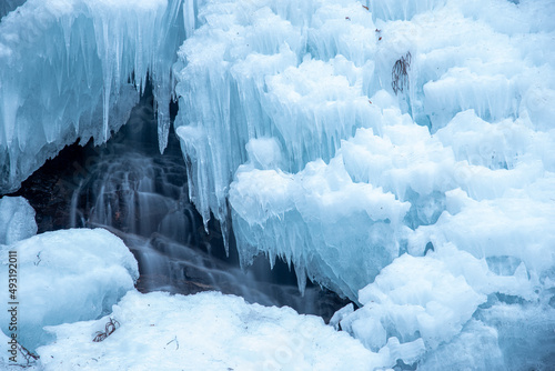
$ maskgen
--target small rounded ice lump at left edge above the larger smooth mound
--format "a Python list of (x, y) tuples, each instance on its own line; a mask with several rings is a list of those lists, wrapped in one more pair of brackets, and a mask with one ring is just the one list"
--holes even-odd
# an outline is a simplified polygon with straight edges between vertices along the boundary
[(22, 197), (0, 199), (0, 244), (12, 244), (37, 234), (34, 210)]

